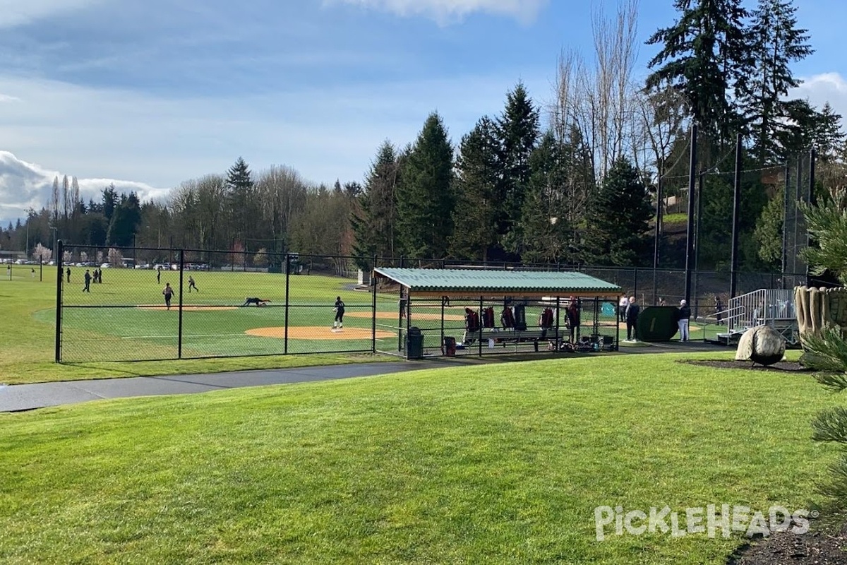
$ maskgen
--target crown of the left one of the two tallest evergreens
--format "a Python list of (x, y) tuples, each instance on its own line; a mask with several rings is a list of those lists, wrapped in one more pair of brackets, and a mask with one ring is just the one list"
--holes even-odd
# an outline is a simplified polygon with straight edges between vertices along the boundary
[(672, 84), (689, 101), (705, 137), (726, 144), (741, 121), (734, 95), (745, 88), (752, 58), (741, 0), (674, 0), (677, 22), (647, 43), (662, 44), (648, 64), (647, 87)]

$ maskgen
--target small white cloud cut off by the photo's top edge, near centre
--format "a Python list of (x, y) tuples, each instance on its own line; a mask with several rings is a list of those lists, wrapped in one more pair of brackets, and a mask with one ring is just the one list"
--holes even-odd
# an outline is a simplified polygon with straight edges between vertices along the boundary
[(528, 24), (547, 0), (329, 0), (392, 12), (403, 17), (424, 16), (439, 24), (461, 21), (469, 14), (505, 15)]

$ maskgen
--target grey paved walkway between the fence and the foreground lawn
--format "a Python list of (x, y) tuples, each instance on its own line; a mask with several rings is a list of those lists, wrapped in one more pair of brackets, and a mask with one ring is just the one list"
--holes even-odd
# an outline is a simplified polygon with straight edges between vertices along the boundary
[[(702, 341), (670, 342), (641, 347), (621, 347), (622, 353), (659, 352), (726, 352), (726, 347), (712, 346)], [(524, 360), (539, 358), (538, 353), (521, 356)], [(579, 355), (579, 354), (578, 354)], [(569, 354), (562, 355), (566, 358)], [(560, 357), (552, 353), (548, 357)], [(68, 380), (34, 385), (0, 385), (0, 412), (19, 412), (62, 404), (75, 404), (102, 398), (156, 396), (220, 391), (245, 386), (287, 385), (314, 380), (350, 379), (378, 374), (399, 373), (421, 368), (457, 367), (463, 365), (513, 361), (509, 355), (476, 357), (435, 357), (423, 361), (386, 363), (353, 363), (324, 367), (260, 369), (233, 373), (184, 374), (162, 377), (126, 377), (119, 379)]]

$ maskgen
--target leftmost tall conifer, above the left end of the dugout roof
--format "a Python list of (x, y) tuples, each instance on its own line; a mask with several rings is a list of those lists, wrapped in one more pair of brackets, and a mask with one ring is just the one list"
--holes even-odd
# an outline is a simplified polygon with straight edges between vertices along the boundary
[(386, 258), (398, 254), (396, 218), (399, 180), (400, 158), (395, 147), (386, 140), (379, 146), (371, 163), (364, 188), (350, 187), (350, 191), (357, 194), (351, 216), (353, 254), (362, 269), (371, 267), (374, 255)]

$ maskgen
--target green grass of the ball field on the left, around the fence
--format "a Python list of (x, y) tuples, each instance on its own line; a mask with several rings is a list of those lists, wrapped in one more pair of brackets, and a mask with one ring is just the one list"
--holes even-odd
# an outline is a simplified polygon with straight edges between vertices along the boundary
[[(64, 360), (53, 363), (55, 343), (55, 268), (44, 268), (43, 280), (30, 276), (30, 267), (13, 265), (12, 279), (0, 271), (0, 383), (19, 384), (51, 380), (75, 380), (115, 376), (189, 374), (248, 368), (301, 367), (335, 363), (379, 361), (382, 356), (338, 349), (370, 348), (356, 340), (320, 341), (316, 349), (306, 340), (290, 341), (290, 353), (327, 351), (316, 355), (270, 355), (182, 361), (116, 362), (116, 359), (163, 357), (176, 350), (176, 312), (146, 310), (136, 304), (160, 304), (166, 281), (178, 285), (178, 273), (163, 273), (161, 284), (149, 270), (103, 269), (103, 284), (91, 285), (91, 293), (81, 291), (84, 269), (72, 268), (71, 283), (65, 286)], [(185, 295), (186, 304), (239, 305), (245, 296), (268, 298), (271, 307), (245, 307), (223, 311), (186, 312), (184, 352), (197, 355), (246, 354), (267, 356), (281, 353), (278, 338), (244, 335), (252, 327), (283, 324), (285, 276), (245, 273), (195, 273), (202, 294)], [(187, 281), (187, 275), (186, 275)], [(291, 308), (291, 321), (325, 326), (332, 324), (332, 302), (342, 296), (355, 310), (370, 305), (367, 293), (350, 291), (354, 281), (317, 275), (291, 277), (291, 296), (301, 306)], [(187, 282), (186, 282), (187, 285)], [(109, 305), (110, 308), (86, 308)], [(131, 305), (131, 307), (130, 307)], [(121, 307), (125, 306), (125, 307)], [(359, 321), (362, 323), (362, 320)], [(352, 322), (356, 324), (356, 322)], [(225, 338), (225, 339), (224, 339)], [(338, 346), (337, 344), (340, 344)], [(298, 349), (299, 348), (299, 349)], [(106, 361), (91, 362), (91, 359)], [(75, 362), (78, 360), (79, 362)]]

